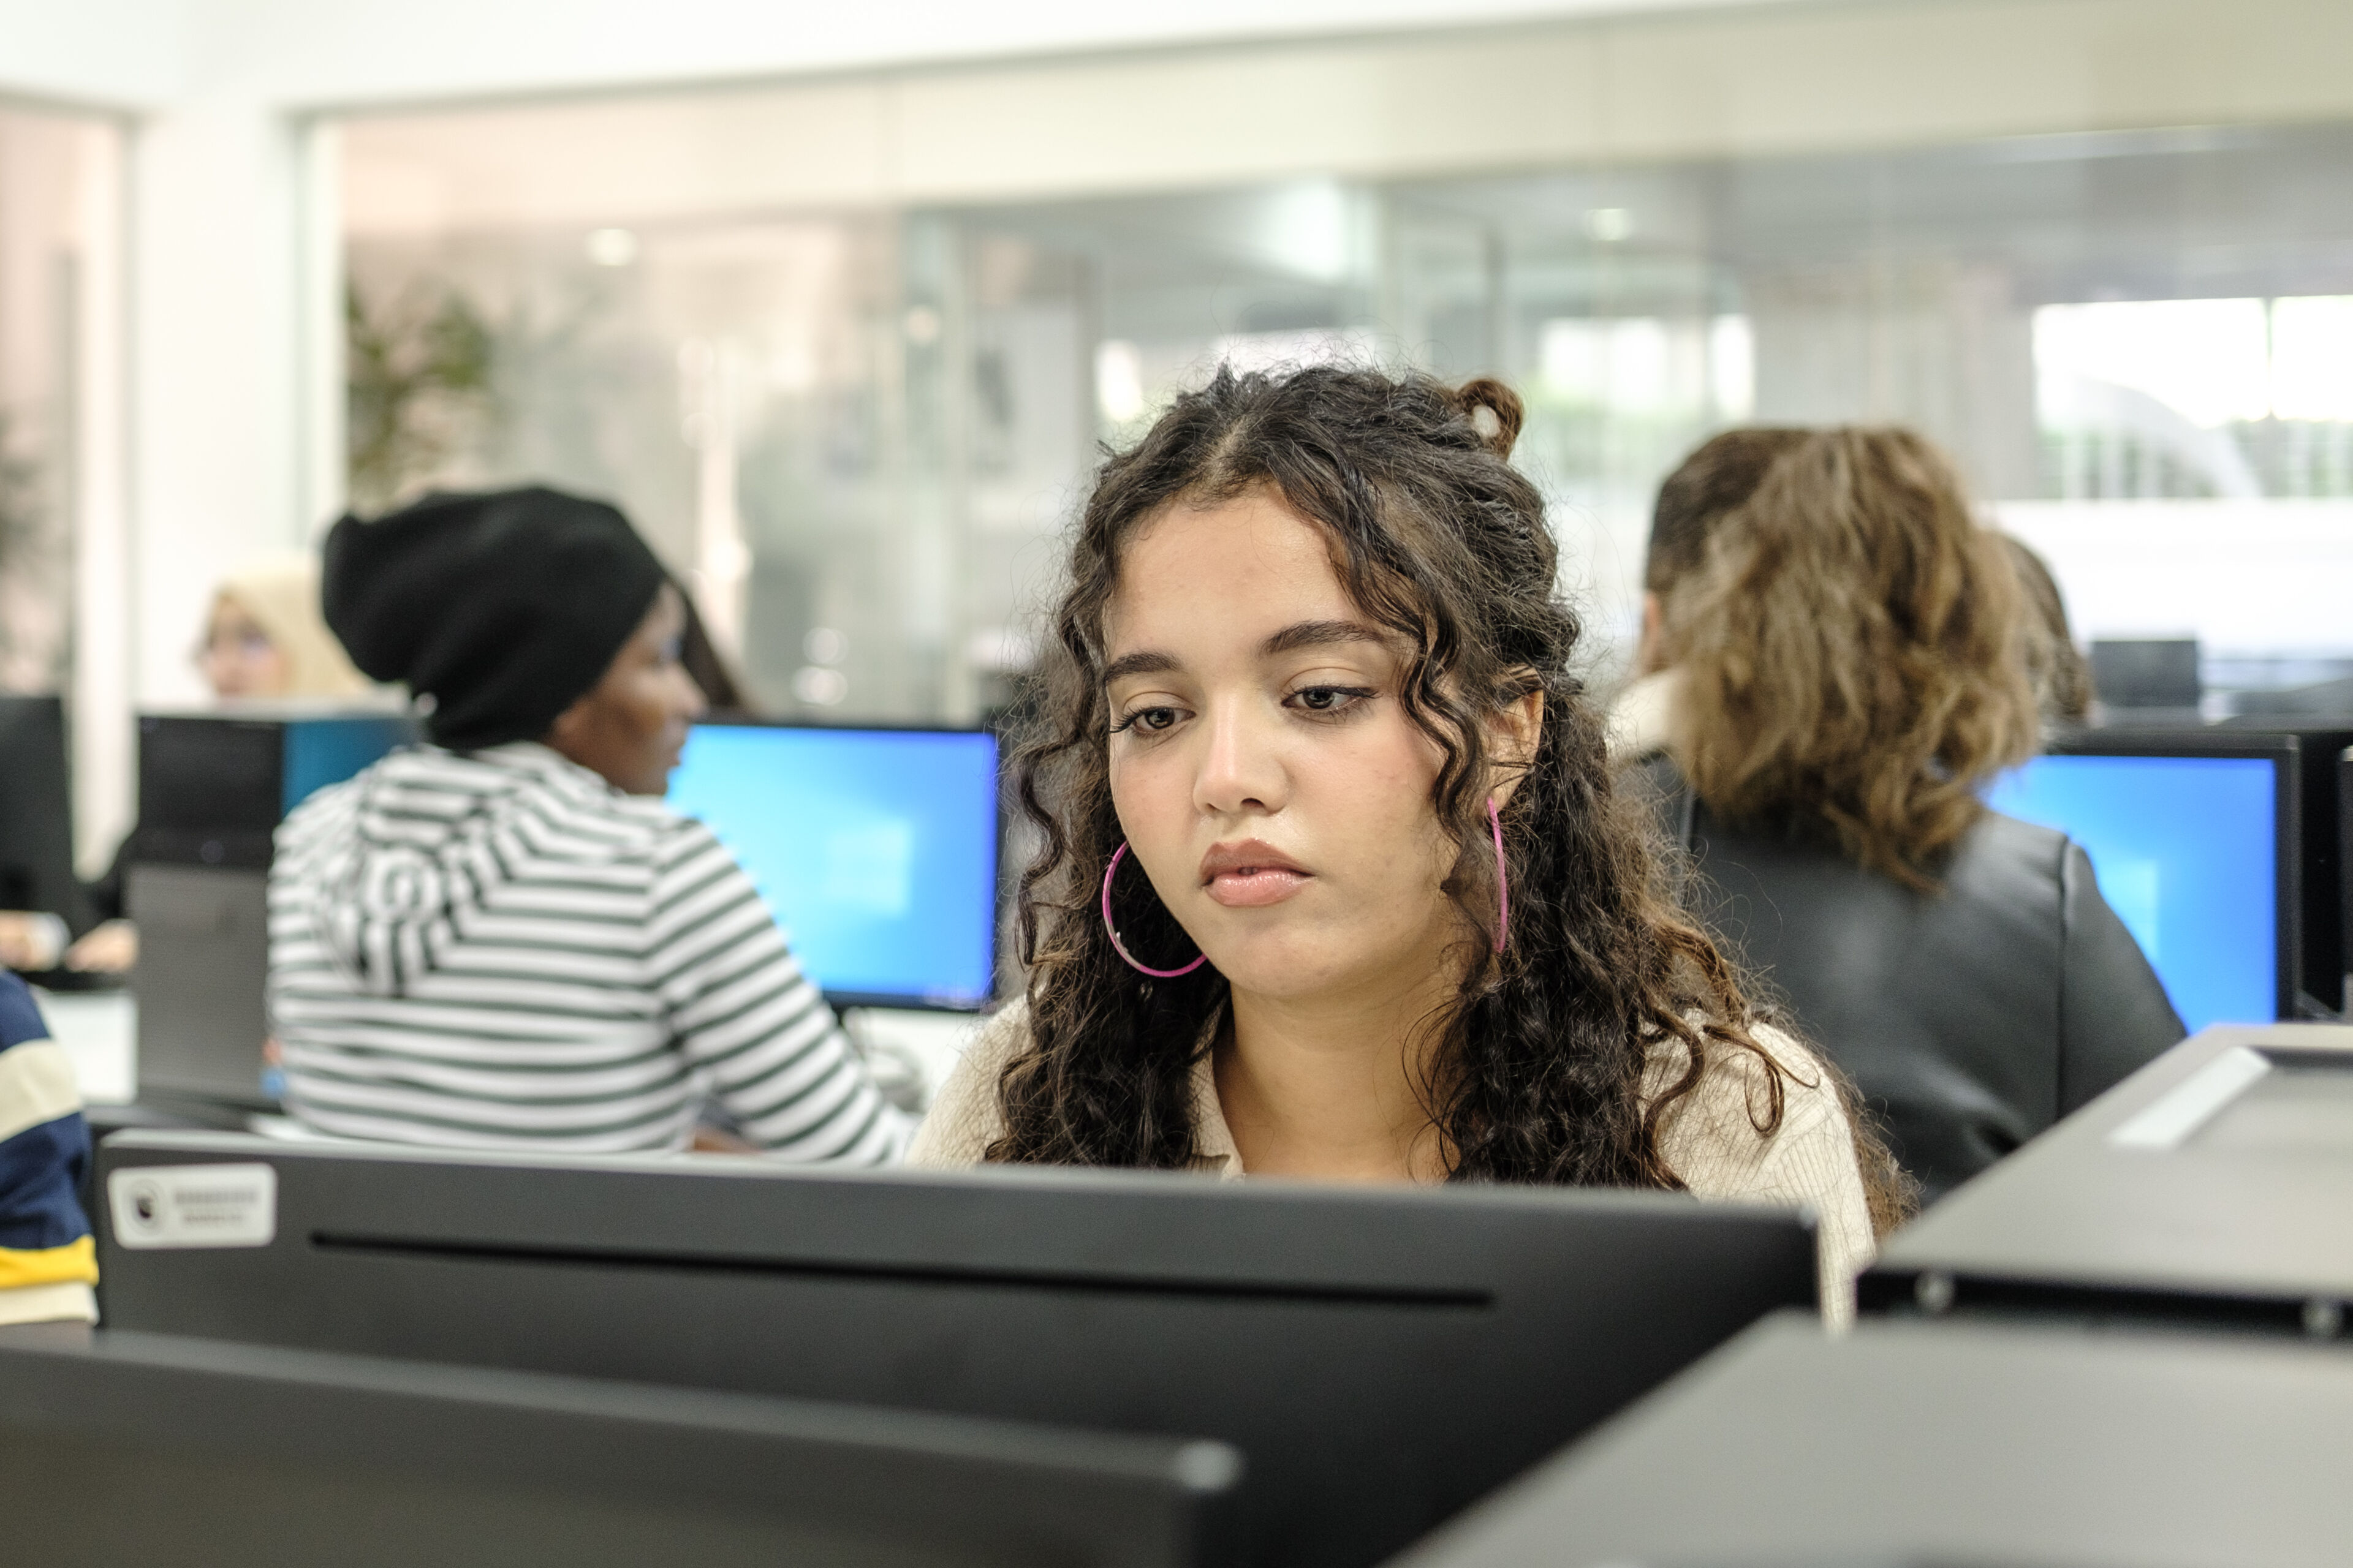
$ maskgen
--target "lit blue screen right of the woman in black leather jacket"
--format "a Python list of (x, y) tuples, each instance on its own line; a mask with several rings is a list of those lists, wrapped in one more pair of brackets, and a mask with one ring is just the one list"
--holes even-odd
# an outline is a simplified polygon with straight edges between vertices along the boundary
[(2278, 788), (2264, 757), (2035, 757), (1986, 804), (2082, 844), (2191, 1030), (2278, 1013)]

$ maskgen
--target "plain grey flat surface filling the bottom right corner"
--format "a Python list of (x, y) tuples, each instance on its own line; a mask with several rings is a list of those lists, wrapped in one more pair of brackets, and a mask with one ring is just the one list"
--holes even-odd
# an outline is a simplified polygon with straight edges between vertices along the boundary
[(2344, 1347), (1781, 1316), (1393, 1568), (2311, 1568), (2348, 1453)]

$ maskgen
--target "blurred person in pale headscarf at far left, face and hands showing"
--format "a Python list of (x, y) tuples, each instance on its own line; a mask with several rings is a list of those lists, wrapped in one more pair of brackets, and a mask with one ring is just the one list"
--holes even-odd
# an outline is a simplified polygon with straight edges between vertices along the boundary
[[(308, 555), (256, 559), (221, 581), (205, 611), (195, 665), (219, 703), (271, 698), (358, 698), (374, 686), (327, 630), (318, 562)], [(82, 884), (94, 926), (80, 936), (56, 912), (0, 910), (0, 966), (26, 973), (122, 973), (139, 961), (139, 929), (125, 919), (125, 837), (113, 865)]]

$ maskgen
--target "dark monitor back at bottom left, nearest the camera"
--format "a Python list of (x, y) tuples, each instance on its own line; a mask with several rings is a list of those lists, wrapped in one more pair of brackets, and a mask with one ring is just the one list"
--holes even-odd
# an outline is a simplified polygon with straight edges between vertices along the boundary
[(28, 1568), (1193, 1568), (1235, 1467), (1207, 1441), (0, 1331)]

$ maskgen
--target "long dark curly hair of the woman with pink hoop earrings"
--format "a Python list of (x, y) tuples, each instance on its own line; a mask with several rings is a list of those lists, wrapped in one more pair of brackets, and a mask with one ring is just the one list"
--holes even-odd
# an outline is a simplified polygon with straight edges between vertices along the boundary
[[(1042, 846), (1019, 898), (1028, 1039), (1000, 1074), (1005, 1135), (988, 1159), (1181, 1168), (1195, 1154), (1191, 1081), (1226, 980), (1212, 966), (1146, 978), (1096, 917), (1122, 837), (1104, 611), (1139, 527), (1254, 487), (1329, 536), (1351, 599), (1412, 649), (1398, 701), (1442, 755), (1431, 804), (1459, 846), (1445, 891), (1464, 919), (1466, 973), (1457, 1004), (1426, 1023), (1421, 1093), (1452, 1178), (1682, 1187), (1659, 1152), (1661, 1117), (1725, 1048), (1765, 1060), (1753, 1119), (1779, 1128), (1784, 1067), (1753, 1039), (1727, 959), (1666, 898), (1642, 806), (1614, 790), (1600, 715), (1569, 672), (1579, 623), (1555, 590), (1544, 498), (1506, 461), (1518, 430), (1520, 400), (1494, 381), (1452, 390), (1419, 374), (1221, 369), (1104, 463), (1016, 755)], [(1544, 729), (1501, 818), (1511, 947), (1494, 954), (1482, 719), (1529, 693), (1541, 693)], [(1155, 898), (1129, 903), (1129, 950), (1191, 947)], [(1668, 1037), (1687, 1051), (1685, 1072), (1645, 1103), (1649, 1051)]]

